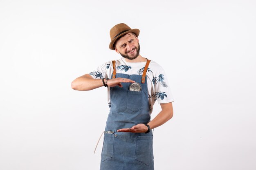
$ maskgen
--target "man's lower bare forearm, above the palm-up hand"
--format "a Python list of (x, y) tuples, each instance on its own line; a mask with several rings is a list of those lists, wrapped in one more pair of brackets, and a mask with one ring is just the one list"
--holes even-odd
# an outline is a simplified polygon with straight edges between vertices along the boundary
[(166, 104), (166, 106), (164, 109), (162, 109), (162, 111), (158, 113), (158, 115), (152, 121), (148, 123), (151, 129), (161, 126), (173, 117), (172, 103), (168, 103)]

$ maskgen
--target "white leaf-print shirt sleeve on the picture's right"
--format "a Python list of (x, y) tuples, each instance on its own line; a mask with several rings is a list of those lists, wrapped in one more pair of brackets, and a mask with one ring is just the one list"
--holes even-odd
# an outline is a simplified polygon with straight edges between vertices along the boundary
[(155, 96), (159, 104), (174, 101), (167, 75), (161, 66), (159, 66), (159, 69), (157, 69), (157, 72), (154, 75), (154, 84)]

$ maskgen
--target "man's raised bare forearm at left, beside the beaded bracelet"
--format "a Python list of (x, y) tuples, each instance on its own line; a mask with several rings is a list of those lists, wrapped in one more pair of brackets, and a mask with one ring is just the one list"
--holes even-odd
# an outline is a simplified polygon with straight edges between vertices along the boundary
[(103, 86), (102, 79), (94, 79), (86, 74), (74, 79), (71, 83), (72, 89), (77, 91), (90, 91)]

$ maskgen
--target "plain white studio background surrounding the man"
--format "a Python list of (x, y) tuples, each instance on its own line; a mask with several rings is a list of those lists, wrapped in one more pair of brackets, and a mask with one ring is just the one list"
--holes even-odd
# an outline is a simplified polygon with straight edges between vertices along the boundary
[(107, 89), (70, 84), (121, 57), (108, 49), (121, 22), (175, 100), (155, 170), (255, 170), (254, 0), (0, 0), (0, 169), (99, 170)]

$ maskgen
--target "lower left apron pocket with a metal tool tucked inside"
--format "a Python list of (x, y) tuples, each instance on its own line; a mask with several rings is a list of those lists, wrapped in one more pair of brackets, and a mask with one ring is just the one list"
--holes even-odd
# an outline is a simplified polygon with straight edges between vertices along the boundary
[(114, 134), (104, 133), (103, 148), (101, 152), (101, 161), (106, 161), (113, 157), (114, 152)]

